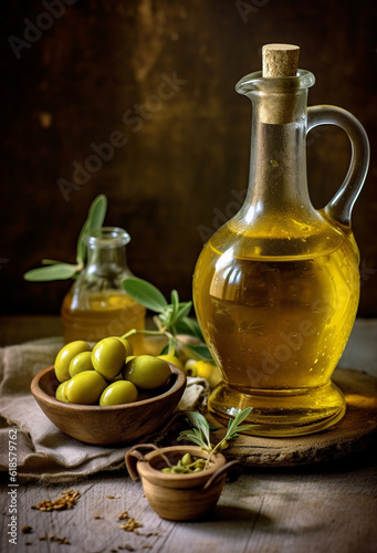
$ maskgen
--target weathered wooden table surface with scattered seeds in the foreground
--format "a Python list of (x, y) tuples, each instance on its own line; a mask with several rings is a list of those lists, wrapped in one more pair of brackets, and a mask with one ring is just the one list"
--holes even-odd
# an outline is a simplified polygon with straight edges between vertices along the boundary
[[(7, 326), (12, 325), (8, 321)], [(38, 336), (29, 332), (30, 337)], [(377, 376), (376, 344), (377, 321), (357, 321), (341, 365)], [(322, 465), (249, 467), (226, 484), (210, 515), (185, 523), (165, 521), (155, 514), (143, 495), (142, 484), (133, 482), (125, 469), (70, 484), (20, 482), (17, 545), (9, 544), (7, 538), (10, 495), (8, 473), (3, 473), (1, 551), (377, 552), (376, 452), (374, 444), (362, 453)], [(73, 509), (32, 509), (66, 489), (81, 493)], [(118, 517), (124, 511), (142, 524), (139, 533), (119, 528)], [(31, 532), (22, 533), (23, 526), (31, 526)], [(64, 539), (70, 543), (62, 543)]]

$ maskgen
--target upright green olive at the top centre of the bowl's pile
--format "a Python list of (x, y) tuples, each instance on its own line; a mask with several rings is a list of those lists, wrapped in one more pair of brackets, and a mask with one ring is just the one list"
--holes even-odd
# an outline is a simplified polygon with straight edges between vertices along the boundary
[(108, 380), (121, 373), (125, 358), (126, 349), (118, 338), (103, 338), (93, 347), (93, 366)]

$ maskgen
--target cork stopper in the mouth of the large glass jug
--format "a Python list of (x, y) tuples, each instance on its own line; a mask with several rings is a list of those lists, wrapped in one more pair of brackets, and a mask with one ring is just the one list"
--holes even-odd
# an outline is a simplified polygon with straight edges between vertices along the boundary
[(295, 76), (300, 46), (294, 44), (265, 44), (262, 49), (262, 76)]

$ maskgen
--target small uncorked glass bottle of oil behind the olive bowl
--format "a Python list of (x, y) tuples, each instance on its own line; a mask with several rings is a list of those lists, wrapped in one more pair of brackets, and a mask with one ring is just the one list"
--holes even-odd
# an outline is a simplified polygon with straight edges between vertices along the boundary
[[(146, 309), (124, 290), (125, 276), (134, 276), (126, 260), (129, 234), (117, 227), (92, 230), (85, 238), (87, 262), (63, 301), (64, 340), (97, 342), (145, 328)], [(130, 338), (136, 354), (143, 353), (143, 335)]]

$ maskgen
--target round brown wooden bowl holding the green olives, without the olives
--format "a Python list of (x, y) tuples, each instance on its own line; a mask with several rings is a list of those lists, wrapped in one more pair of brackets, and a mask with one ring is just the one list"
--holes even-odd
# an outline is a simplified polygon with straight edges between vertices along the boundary
[(151, 397), (132, 404), (102, 407), (66, 404), (55, 399), (59, 382), (48, 367), (31, 383), (31, 392), (46, 417), (63, 432), (86, 444), (121, 446), (157, 430), (177, 407), (186, 387), (185, 373), (169, 363), (168, 384)]

